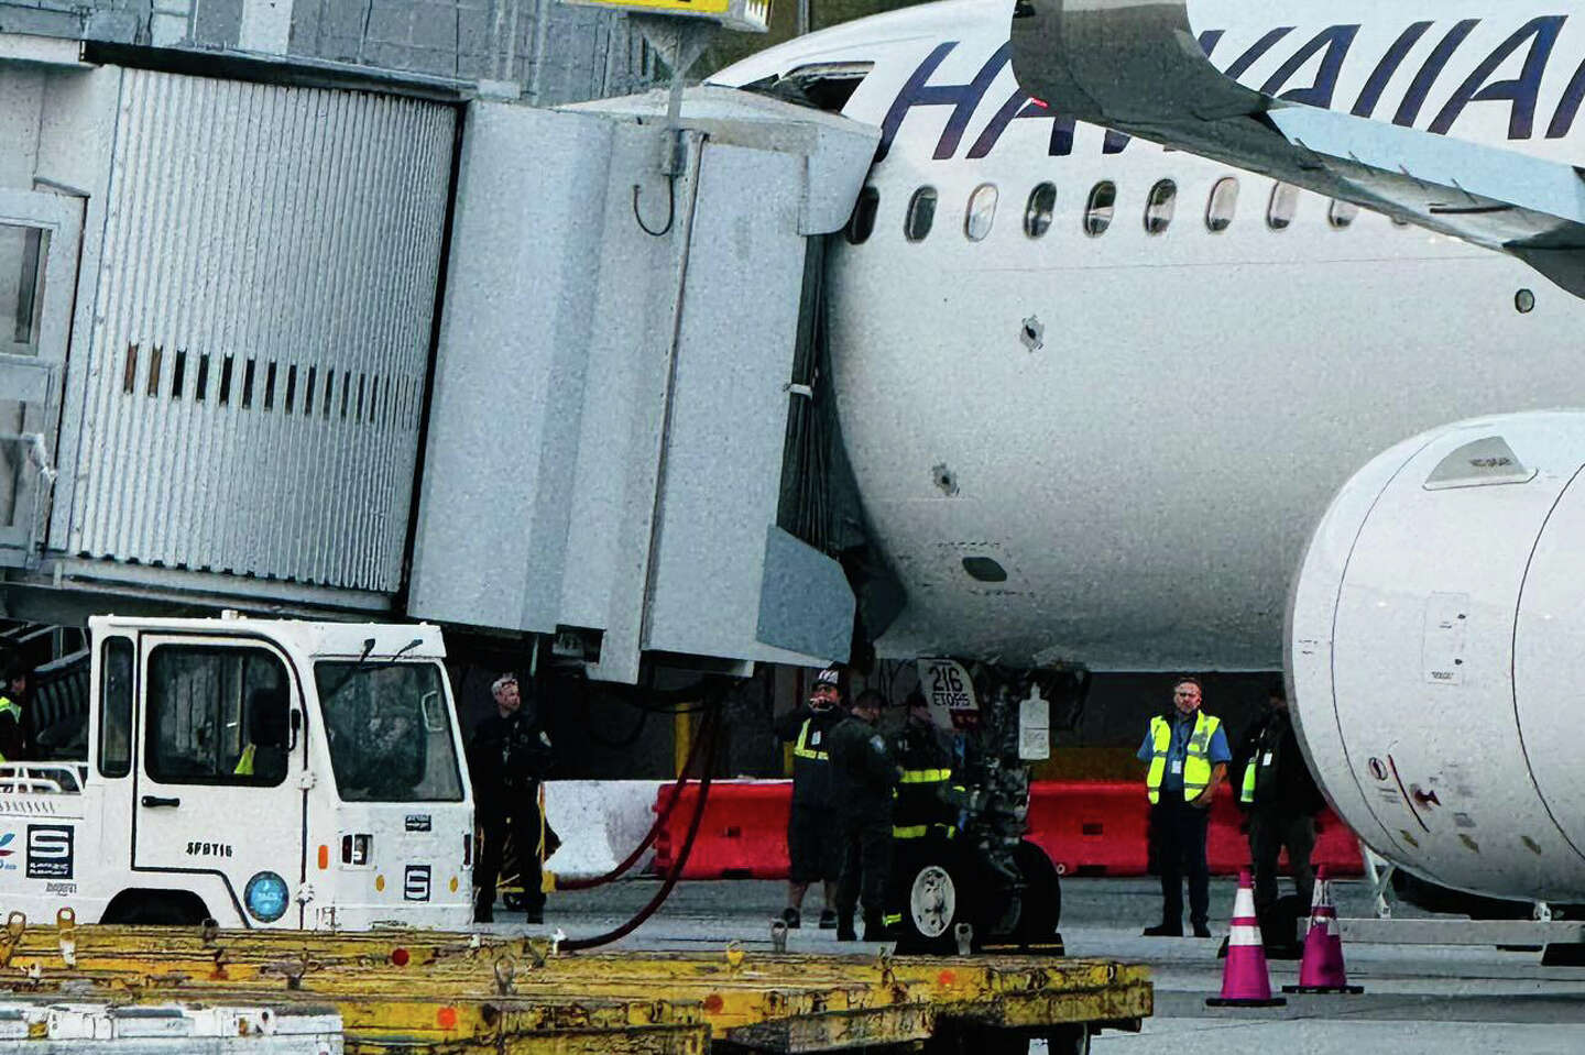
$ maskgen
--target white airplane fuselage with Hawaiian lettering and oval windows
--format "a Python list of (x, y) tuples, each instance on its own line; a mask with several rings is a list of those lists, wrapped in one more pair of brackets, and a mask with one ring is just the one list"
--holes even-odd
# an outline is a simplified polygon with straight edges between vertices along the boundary
[[(1289, 581), (1339, 485), (1446, 421), (1585, 404), (1585, 303), (1382, 214), (1336, 227), (1308, 192), (1278, 230), (1270, 177), (1092, 125), (1068, 135), (1014, 82), (1011, 11), (896, 11), (712, 78), (873, 63), (843, 112), (883, 127), (875, 223), (862, 242), (834, 239), (829, 333), (843, 442), (908, 592), (878, 646), (1276, 668)], [(1585, 14), (1561, 5), (1206, 0), (1190, 16), (1213, 63), (1246, 86), (1585, 162)], [(1213, 231), (1227, 177), (1236, 211)], [(1090, 234), (1103, 181), (1114, 214)], [(1176, 187), (1173, 217), (1149, 233), (1160, 181)], [(1041, 182), (1056, 208), (1032, 238)], [(983, 185), (997, 204), (972, 241)], [(921, 187), (935, 219), (910, 241)], [(1005, 581), (975, 578), (964, 558), (989, 558)]]

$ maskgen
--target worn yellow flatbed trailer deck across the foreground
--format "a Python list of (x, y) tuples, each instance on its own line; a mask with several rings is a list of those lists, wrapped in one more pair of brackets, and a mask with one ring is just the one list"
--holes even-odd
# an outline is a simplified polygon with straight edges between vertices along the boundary
[(40, 1003), (328, 1006), (347, 1052), (1052, 1050), (1138, 1030), (1148, 969), (1111, 960), (745, 952), (560, 954), (537, 938), (385, 930), (25, 927), (0, 990)]

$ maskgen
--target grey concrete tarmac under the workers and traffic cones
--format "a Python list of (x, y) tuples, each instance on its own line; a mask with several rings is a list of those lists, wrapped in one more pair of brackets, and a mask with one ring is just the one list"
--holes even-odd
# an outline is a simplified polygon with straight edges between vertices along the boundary
[[(659, 882), (637, 879), (588, 892), (555, 893), (545, 925), (583, 938), (609, 931), (637, 912)], [(1368, 916), (1358, 882), (1335, 882), (1339, 916)], [(1214, 938), (1143, 938), (1160, 914), (1154, 879), (1065, 879), (1062, 936), (1070, 955), (1111, 957), (1152, 968), (1155, 1015), (1140, 1034), (1103, 1033), (1092, 1050), (1129, 1055), (1463, 1055), (1465, 1052), (1585, 1052), (1585, 968), (1542, 968), (1539, 952), (1493, 947), (1350, 944), (1349, 981), (1358, 996), (1289, 995), (1285, 1007), (1213, 1009), (1222, 987), (1217, 946), (1227, 935), (1235, 882), (1211, 884)], [(750, 954), (770, 949), (770, 919), (786, 886), (762, 881), (680, 882), (664, 906), (617, 947), (710, 949), (739, 941)], [(791, 931), (794, 952), (875, 952), (880, 946), (838, 944), (815, 927), (821, 897), (810, 890), (804, 927)], [(1400, 916), (1423, 916), (1401, 908)], [(493, 930), (521, 931), (496, 908)], [(1271, 985), (1298, 981), (1297, 962), (1273, 962)], [(1037, 1044), (1032, 1050), (1041, 1050)]]

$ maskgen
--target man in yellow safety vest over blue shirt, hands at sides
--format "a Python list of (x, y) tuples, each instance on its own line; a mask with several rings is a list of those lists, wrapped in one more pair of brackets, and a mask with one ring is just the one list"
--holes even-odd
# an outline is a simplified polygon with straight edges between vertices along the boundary
[(1173, 683), (1173, 708), (1151, 719), (1138, 759), (1149, 764), (1151, 851), (1162, 874), (1162, 922), (1149, 938), (1181, 938), (1182, 881), (1189, 879), (1189, 922), (1195, 938), (1209, 938), (1211, 876), (1205, 859), (1206, 825), (1216, 789), (1227, 779), (1232, 751), (1222, 719), (1200, 710), (1198, 678)]

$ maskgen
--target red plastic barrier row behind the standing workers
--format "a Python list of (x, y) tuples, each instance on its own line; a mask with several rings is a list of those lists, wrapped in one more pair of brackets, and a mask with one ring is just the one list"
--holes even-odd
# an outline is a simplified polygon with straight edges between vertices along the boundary
[[(655, 808), (670, 798), (659, 789)], [(685, 879), (786, 879), (791, 781), (716, 781), (688, 857)], [(667, 874), (699, 802), (699, 786), (683, 787), (655, 840), (655, 871)], [(1143, 876), (1149, 873), (1151, 806), (1144, 786), (1124, 781), (1035, 781), (1029, 789), (1029, 840), (1070, 876)], [(1211, 806), (1206, 862), (1213, 876), (1236, 876), (1249, 865), (1249, 840), (1232, 789)], [(1365, 865), (1349, 828), (1330, 811), (1316, 817), (1311, 862), (1333, 876), (1358, 876)], [(1285, 859), (1284, 859), (1285, 866)]]

